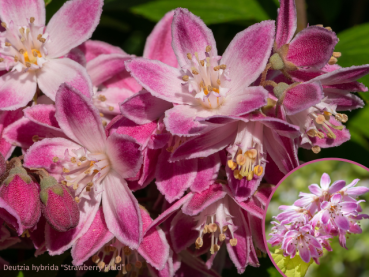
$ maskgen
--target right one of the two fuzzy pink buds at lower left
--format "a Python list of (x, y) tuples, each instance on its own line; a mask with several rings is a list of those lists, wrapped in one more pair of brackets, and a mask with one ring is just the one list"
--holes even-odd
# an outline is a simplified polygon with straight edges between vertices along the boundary
[(79, 208), (69, 189), (58, 184), (51, 176), (44, 177), (40, 185), (42, 213), (47, 222), (59, 232), (76, 227), (79, 222)]

